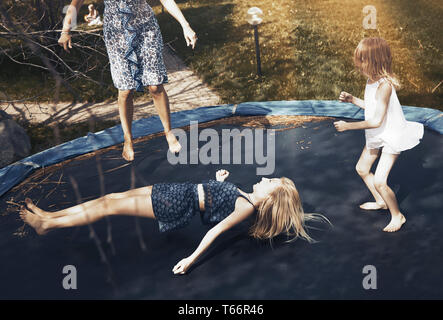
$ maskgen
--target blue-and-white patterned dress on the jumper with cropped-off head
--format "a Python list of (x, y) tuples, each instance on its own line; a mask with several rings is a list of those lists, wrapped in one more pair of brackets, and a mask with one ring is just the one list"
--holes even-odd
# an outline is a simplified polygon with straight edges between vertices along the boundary
[(105, 0), (103, 35), (114, 86), (136, 89), (168, 82), (163, 39), (146, 0)]

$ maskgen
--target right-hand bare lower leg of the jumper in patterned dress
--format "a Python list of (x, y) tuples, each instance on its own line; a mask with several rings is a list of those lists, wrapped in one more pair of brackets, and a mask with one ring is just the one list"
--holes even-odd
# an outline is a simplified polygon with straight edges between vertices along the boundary
[(181, 145), (177, 141), (177, 138), (171, 131), (171, 115), (169, 110), (169, 98), (165, 91), (163, 85), (149, 86), (149, 93), (152, 95), (154, 100), (154, 106), (160, 117), (160, 121), (163, 124), (165, 130), (166, 141), (169, 145), (169, 150), (172, 153), (179, 152), (181, 150)]

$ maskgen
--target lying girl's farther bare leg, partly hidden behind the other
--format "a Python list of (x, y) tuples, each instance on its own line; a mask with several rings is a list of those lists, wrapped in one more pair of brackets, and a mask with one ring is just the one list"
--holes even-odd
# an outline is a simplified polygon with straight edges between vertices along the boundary
[[(107, 194), (106, 196), (104, 196), (103, 198), (123, 199), (123, 198), (129, 198), (129, 197), (134, 197), (134, 196), (149, 197), (151, 195), (151, 192), (152, 192), (152, 186), (147, 186), (147, 187), (128, 190), (125, 192), (110, 193), (110, 194)], [(84, 202), (82, 204), (72, 206), (72, 207), (69, 207), (69, 208), (66, 208), (63, 210), (54, 211), (54, 212), (48, 212), (48, 211), (40, 209), (29, 198), (25, 199), (25, 203), (26, 203), (26, 206), (29, 210), (31, 210), (33, 213), (37, 214), (38, 216), (40, 216), (42, 218), (58, 218), (58, 217), (62, 217), (65, 215), (73, 215), (73, 214), (80, 213), (83, 211), (83, 209), (85, 207), (90, 207), (90, 206), (93, 207), (93, 206), (97, 205), (98, 203), (103, 201), (102, 200), (103, 198), (90, 200), (90, 201)]]

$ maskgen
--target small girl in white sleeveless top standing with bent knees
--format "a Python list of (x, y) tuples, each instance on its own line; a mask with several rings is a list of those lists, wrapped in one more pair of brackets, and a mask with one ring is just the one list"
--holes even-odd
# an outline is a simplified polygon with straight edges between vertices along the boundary
[[(366, 145), (356, 170), (375, 202), (366, 202), (360, 208), (389, 209), (391, 221), (383, 231), (394, 232), (401, 228), (406, 218), (400, 212), (395, 193), (387, 185), (388, 175), (400, 152), (419, 144), (424, 129), (421, 123), (405, 119), (395, 91), (399, 83), (392, 73), (391, 50), (384, 39), (365, 38), (360, 41), (354, 52), (354, 63), (368, 77), (364, 101), (347, 92), (342, 92), (339, 100), (365, 109), (365, 120), (337, 121), (334, 126), (339, 132), (365, 129)], [(380, 160), (373, 174), (370, 170), (380, 149)]]

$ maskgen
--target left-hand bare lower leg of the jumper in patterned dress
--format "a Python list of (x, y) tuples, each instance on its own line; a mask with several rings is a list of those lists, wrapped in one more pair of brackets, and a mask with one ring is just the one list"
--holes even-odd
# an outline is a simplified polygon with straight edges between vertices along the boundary
[(134, 148), (132, 146), (132, 118), (134, 115), (134, 93), (132, 90), (118, 91), (118, 112), (122, 124), (125, 142), (122, 156), (126, 161), (134, 160)]

